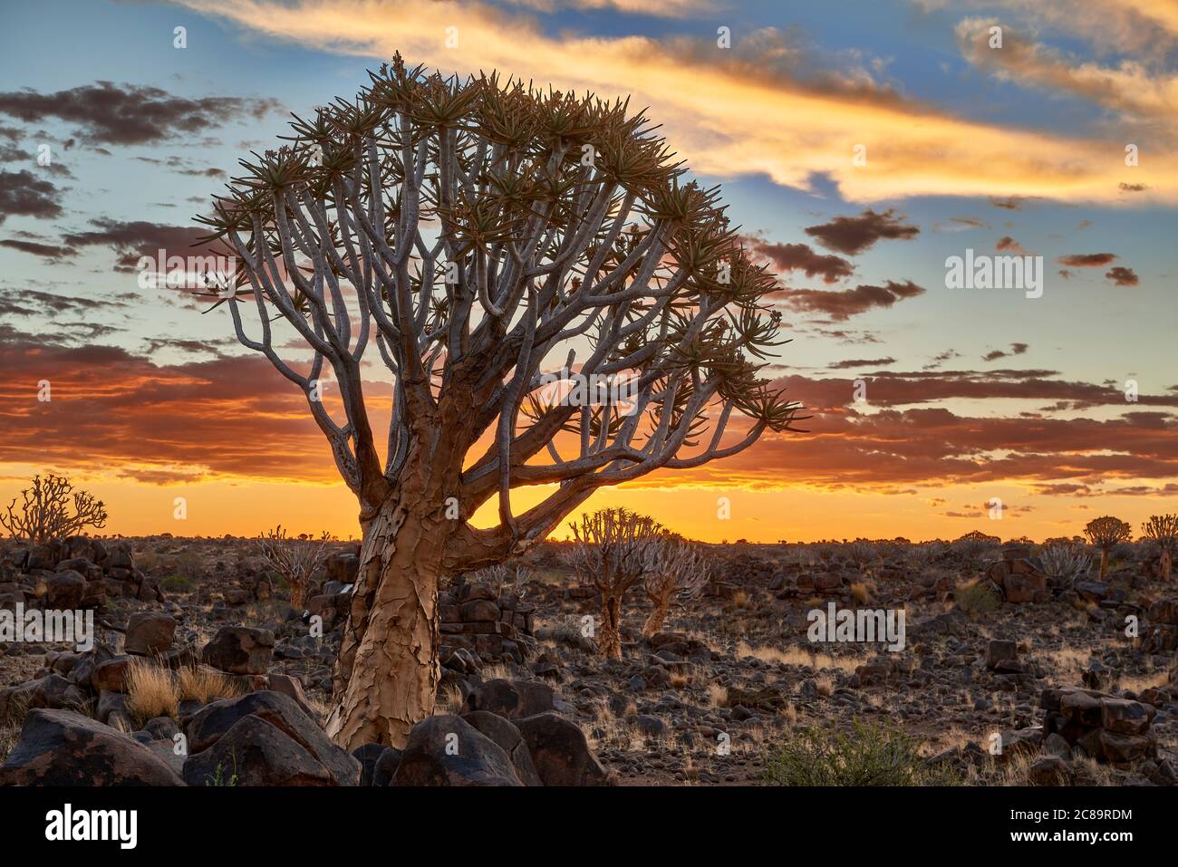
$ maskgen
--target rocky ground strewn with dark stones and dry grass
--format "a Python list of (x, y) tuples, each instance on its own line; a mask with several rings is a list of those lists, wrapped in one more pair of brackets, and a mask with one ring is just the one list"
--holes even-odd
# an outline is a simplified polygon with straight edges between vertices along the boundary
[[(1144, 547), (1097, 581), (986, 538), (714, 545), (651, 638), (631, 591), (605, 660), (550, 543), (525, 583), (448, 581), (436, 715), (356, 755), (322, 730), (358, 563), (332, 548), (304, 611), (246, 540), (2, 543), (0, 608), (93, 609), (100, 643), (0, 642), (0, 783), (790, 782), (805, 732), (902, 733), (914, 781), (1176, 782), (1178, 588)], [(904, 649), (809, 641), (829, 602), (902, 610)]]

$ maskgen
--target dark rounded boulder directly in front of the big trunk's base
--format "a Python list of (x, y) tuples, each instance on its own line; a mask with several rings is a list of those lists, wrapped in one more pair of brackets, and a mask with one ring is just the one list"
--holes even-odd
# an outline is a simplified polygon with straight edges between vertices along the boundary
[(391, 786), (522, 786), (508, 754), (449, 714), (413, 726)]

